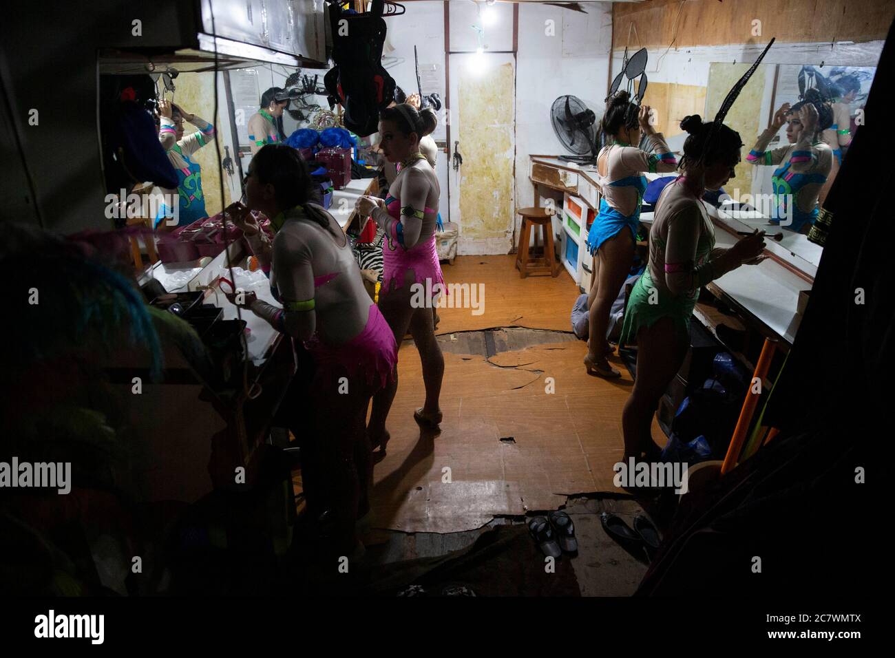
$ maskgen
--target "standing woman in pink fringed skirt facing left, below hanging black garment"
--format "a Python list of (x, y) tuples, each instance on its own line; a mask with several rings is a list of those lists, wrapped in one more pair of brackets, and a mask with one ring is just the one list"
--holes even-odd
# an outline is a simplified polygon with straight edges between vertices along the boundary
[[(382, 244), (382, 288), (379, 308), (388, 320), (400, 345), (407, 330), (422, 361), (422, 380), (426, 401), (413, 413), (422, 426), (436, 427), (441, 422), (439, 395), (444, 377), (444, 356), (435, 338), (432, 310), (426, 300), (414, 308), (413, 284), (432, 289), (444, 286), (439, 256), (435, 248), (435, 229), (439, 215), (439, 179), (420, 152), (420, 139), (435, 130), (438, 119), (431, 108), (418, 112), (402, 103), (382, 111), (379, 121), (381, 148), (390, 162), (399, 162), (395, 181), (385, 200), (362, 196), (356, 204), (362, 217), (370, 216), (386, 234)], [(433, 295), (434, 296), (434, 295)], [(391, 383), (373, 398), (370, 418), (371, 444), (384, 452), (388, 443), (386, 418), (397, 389), (397, 371)]]

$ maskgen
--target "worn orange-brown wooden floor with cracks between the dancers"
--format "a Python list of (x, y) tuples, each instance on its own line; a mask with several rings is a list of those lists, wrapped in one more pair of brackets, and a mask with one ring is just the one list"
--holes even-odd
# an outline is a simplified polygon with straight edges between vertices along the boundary
[[(621, 410), (633, 382), (618, 357), (619, 380), (584, 371), (586, 346), (571, 336), (569, 319), (579, 293), (567, 272), (520, 279), (513, 260), (461, 256), (444, 266), (448, 283), (483, 283), (485, 305), (481, 315), (439, 309), (445, 377), (437, 436), (413, 420), (423, 403), (422, 370), (413, 342), (401, 346), (371, 526), (460, 532), (494, 517), (558, 508), (571, 494), (622, 492), (612, 465), (623, 453)], [(481, 331), (506, 327), (557, 333)]]

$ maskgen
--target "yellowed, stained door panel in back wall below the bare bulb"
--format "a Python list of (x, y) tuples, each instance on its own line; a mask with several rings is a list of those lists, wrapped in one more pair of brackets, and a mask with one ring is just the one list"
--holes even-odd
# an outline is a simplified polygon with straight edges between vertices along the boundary
[(465, 239), (507, 238), (513, 231), (512, 64), (491, 67), (459, 82), (460, 222)]

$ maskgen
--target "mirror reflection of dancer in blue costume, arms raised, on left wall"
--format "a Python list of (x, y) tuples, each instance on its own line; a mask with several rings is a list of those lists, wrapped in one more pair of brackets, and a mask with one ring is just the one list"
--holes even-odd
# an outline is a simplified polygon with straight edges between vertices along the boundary
[[(183, 132), (183, 121), (188, 121), (198, 131), (190, 134)], [(158, 141), (167, 153), (168, 160), (177, 172), (177, 191), (180, 209), (176, 225), (168, 225), (165, 218), (171, 217), (171, 209), (163, 205), (158, 209), (155, 226), (173, 229), (176, 226), (192, 224), (197, 219), (208, 217), (205, 210), (205, 195), (202, 192), (202, 170), (198, 162), (191, 156), (197, 150), (214, 139), (215, 127), (200, 116), (185, 112), (168, 100), (158, 101)], [(173, 197), (175, 192), (164, 190), (165, 198)], [(159, 226), (161, 225), (161, 226)]]

